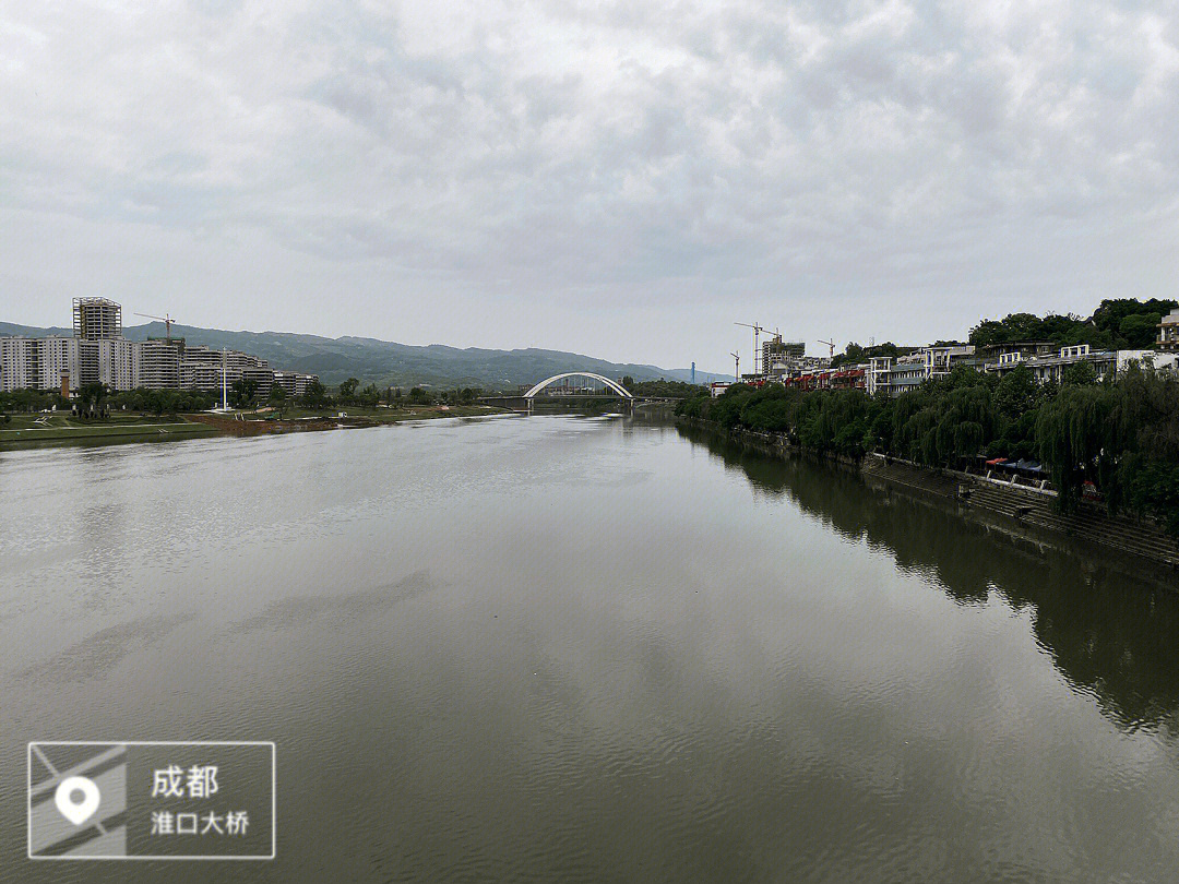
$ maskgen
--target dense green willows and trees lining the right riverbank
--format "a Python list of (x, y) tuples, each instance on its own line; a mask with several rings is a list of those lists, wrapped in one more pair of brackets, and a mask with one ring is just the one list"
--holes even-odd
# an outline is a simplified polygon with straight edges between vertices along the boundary
[(1111, 512), (1152, 516), (1179, 536), (1179, 377), (1150, 365), (1131, 362), (1099, 383), (1081, 363), (1059, 384), (1036, 383), (1025, 365), (1002, 377), (959, 367), (896, 398), (735, 384), (685, 400), (677, 414), (852, 459), (875, 451), (934, 468), (1039, 460), (1062, 508), (1093, 482)]

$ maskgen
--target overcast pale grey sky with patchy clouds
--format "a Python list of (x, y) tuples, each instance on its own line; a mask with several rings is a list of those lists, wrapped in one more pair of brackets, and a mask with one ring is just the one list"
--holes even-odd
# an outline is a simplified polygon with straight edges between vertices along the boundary
[(717, 371), (1177, 281), (1175, 0), (0, 0), (9, 322)]

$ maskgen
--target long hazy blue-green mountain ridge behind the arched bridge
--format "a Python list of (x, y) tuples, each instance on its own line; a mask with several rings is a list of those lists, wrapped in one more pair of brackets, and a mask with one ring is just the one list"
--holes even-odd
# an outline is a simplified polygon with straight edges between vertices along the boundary
[[(164, 337), (164, 323), (151, 322), (123, 330), (131, 341)], [(0, 335), (45, 337), (72, 335), (71, 329), (42, 329), (0, 322)], [(561, 350), (483, 350), (430, 344), (410, 347), (365, 337), (328, 338), (281, 331), (222, 331), (192, 325), (172, 325), (172, 337), (190, 344), (228, 347), (268, 359), (272, 368), (316, 374), (325, 384), (349, 377), (378, 387), (432, 384), (435, 387), (482, 387), (487, 390), (515, 390), (562, 371), (594, 371), (606, 377), (630, 375), (635, 381), (691, 380), (691, 369), (661, 369), (657, 365), (607, 362)], [(697, 383), (731, 381), (731, 376), (696, 372)]]

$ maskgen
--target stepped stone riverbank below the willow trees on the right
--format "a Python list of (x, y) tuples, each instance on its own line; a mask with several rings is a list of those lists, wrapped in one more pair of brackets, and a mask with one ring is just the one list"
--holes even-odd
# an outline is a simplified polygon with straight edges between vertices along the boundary
[(1056, 509), (1053, 492), (1013, 486), (968, 473), (933, 469), (869, 454), (861, 460), (821, 455), (791, 442), (785, 434), (736, 429), (726, 431), (706, 421), (681, 418), (686, 424), (729, 436), (764, 453), (808, 456), (858, 473), (870, 486), (885, 493), (902, 493), (949, 504), (950, 512), (1039, 548), (1067, 539), (1071, 546), (1093, 545), (1124, 560), (1126, 570), (1147, 575), (1179, 591), (1179, 543), (1146, 521), (1111, 516), (1102, 507), (1082, 502), (1073, 513)]

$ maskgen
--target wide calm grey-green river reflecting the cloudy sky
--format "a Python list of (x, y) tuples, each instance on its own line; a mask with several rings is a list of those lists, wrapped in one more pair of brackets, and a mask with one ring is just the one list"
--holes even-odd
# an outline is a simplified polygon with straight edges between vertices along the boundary
[[(0, 880), (1170, 882), (1179, 598), (658, 421), (0, 455)], [(274, 740), (272, 862), (33, 862), (29, 740)]]

